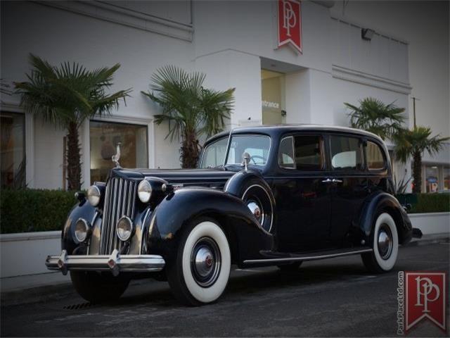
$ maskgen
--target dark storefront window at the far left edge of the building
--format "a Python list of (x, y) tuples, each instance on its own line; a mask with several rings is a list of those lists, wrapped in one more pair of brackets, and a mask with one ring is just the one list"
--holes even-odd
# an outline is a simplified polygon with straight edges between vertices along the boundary
[(25, 115), (0, 112), (1, 188), (25, 187)]

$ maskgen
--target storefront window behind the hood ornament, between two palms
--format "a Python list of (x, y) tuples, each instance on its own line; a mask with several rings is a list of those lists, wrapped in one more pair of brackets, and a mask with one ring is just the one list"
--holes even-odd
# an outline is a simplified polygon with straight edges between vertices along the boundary
[(91, 183), (105, 182), (113, 168), (111, 157), (120, 142), (123, 168), (148, 168), (148, 133), (146, 125), (91, 121)]

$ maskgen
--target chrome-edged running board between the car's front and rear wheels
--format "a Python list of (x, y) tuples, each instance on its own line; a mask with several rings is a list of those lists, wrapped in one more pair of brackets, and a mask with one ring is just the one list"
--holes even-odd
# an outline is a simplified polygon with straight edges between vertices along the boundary
[(357, 248), (357, 249), (340, 249), (323, 251), (322, 253), (281, 253), (272, 251), (262, 251), (262, 255), (272, 256), (271, 258), (248, 259), (243, 261), (245, 265), (252, 264), (276, 264), (276, 263), (290, 263), (300, 261), (315, 261), (324, 258), (333, 258), (340, 256), (357, 255), (359, 253), (371, 252), (371, 248)]

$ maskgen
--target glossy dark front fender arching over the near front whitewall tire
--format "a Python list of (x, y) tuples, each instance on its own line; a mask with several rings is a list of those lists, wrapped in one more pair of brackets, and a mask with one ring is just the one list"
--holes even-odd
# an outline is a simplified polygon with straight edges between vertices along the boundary
[(273, 236), (262, 229), (243, 201), (221, 190), (199, 187), (176, 190), (155, 208), (146, 234), (147, 253), (173, 260), (186, 225), (203, 216), (216, 220), (226, 233), (233, 263), (259, 258), (259, 251), (273, 249)]

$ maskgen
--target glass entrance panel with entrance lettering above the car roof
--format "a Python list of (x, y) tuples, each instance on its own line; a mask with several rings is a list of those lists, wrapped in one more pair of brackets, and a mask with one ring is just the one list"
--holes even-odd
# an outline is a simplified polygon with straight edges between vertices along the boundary
[(261, 70), (262, 123), (279, 125), (285, 117), (285, 75), (271, 70)]

